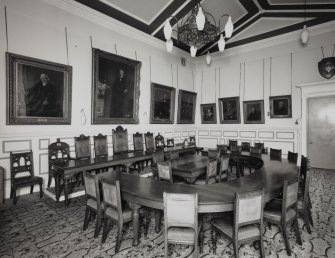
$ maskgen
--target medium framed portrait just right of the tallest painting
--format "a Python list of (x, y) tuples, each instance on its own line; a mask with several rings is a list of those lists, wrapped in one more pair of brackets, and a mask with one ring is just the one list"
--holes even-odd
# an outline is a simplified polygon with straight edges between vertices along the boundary
[(173, 124), (176, 89), (151, 83), (151, 124)]

